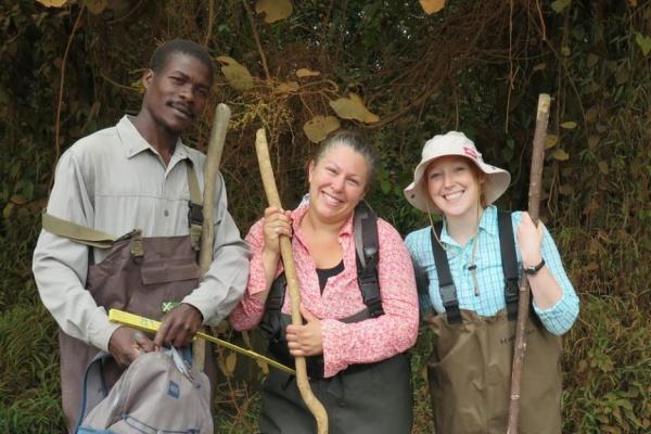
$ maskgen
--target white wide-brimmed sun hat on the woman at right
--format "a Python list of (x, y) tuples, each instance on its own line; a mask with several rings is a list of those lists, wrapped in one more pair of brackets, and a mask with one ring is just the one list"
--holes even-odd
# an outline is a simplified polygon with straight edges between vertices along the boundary
[(425, 142), (421, 162), (416, 166), (416, 170), (413, 170), (413, 182), (405, 189), (405, 197), (418, 209), (425, 213), (429, 209), (437, 210), (430, 199), (427, 188), (423, 184), (422, 179), (430, 163), (435, 158), (446, 155), (463, 156), (473, 162), (480, 170), (486, 174), (484, 196), (487, 204), (497, 201), (507, 191), (511, 182), (511, 175), (505, 169), (484, 163), (482, 154), (477, 151), (473, 141), (465, 137), (463, 132), (449, 131), (445, 135), (434, 136)]

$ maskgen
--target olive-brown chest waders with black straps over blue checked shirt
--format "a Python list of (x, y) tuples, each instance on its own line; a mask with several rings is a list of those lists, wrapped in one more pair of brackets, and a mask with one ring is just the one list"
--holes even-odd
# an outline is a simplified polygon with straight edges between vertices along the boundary
[[(459, 309), (447, 255), (432, 250), (445, 314), (432, 321), (436, 348), (427, 378), (437, 434), (503, 434), (507, 431), (518, 315), (518, 263), (509, 213), (498, 214), (507, 308), (492, 317)], [(442, 226), (437, 227), (441, 233)], [(513, 292), (514, 289), (514, 292)], [(526, 328), (520, 410), (522, 434), (561, 433), (561, 339), (533, 315)]]

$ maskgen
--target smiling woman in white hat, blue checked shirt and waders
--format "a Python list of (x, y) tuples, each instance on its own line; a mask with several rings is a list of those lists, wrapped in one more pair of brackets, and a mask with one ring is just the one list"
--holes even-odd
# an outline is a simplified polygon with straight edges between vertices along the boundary
[(574, 323), (578, 298), (544, 225), (536, 227), (526, 212), (492, 205), (510, 179), (484, 163), (462, 132), (450, 131), (425, 143), (405, 189), (411, 205), (443, 217), (405, 240), (426, 282), (421, 308), (437, 314), (427, 362), (437, 433), (506, 432), (522, 278), (531, 284), (534, 315), (526, 329), (520, 432), (561, 432), (559, 336)]

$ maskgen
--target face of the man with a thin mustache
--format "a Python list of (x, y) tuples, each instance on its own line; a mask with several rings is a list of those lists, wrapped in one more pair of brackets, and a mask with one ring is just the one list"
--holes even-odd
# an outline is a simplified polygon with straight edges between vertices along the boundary
[(169, 132), (180, 133), (203, 112), (213, 84), (210, 71), (196, 58), (173, 54), (158, 73), (148, 71), (143, 110)]

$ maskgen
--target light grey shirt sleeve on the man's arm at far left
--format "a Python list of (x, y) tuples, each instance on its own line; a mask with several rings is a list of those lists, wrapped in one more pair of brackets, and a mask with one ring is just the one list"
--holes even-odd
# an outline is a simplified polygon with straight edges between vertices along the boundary
[[(48, 202), (48, 213), (81, 226), (91, 226), (93, 207), (80, 166), (73, 152), (62, 155)], [(89, 247), (41, 230), (33, 258), (39, 295), (61, 329), (73, 337), (106, 350), (118, 328), (108, 322), (86, 290)]]

